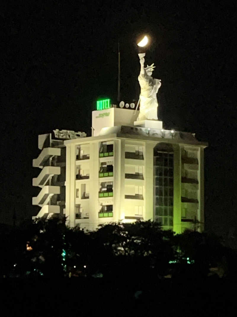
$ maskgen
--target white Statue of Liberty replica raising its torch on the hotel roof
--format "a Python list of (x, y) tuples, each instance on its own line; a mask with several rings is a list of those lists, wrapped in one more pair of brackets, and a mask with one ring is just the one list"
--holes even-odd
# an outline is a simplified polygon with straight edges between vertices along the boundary
[(138, 54), (140, 58), (141, 70), (138, 81), (141, 87), (140, 93), (140, 113), (137, 121), (158, 120), (158, 101), (156, 94), (161, 87), (161, 80), (152, 77), (155, 68), (154, 63), (144, 68), (145, 53)]

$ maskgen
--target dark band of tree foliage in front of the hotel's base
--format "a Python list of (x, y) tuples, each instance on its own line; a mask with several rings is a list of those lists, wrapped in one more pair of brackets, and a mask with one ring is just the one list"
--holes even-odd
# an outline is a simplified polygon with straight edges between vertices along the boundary
[(195, 274), (207, 275), (210, 266), (220, 268), (219, 276), (235, 274), (236, 252), (217, 237), (197, 231), (175, 235), (152, 221), (109, 223), (88, 232), (68, 228), (66, 218), (41, 218), (5, 228), (0, 243), (2, 276), (164, 276), (184, 266)]

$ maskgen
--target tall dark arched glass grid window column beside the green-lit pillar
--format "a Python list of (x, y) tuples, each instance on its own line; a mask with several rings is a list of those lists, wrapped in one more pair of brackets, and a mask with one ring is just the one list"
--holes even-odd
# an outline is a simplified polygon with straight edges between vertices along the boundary
[(173, 151), (154, 149), (154, 220), (173, 230)]

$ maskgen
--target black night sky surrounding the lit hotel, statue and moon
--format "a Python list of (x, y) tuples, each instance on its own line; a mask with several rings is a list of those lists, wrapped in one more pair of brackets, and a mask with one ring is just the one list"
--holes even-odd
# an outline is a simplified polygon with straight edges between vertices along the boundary
[[(236, 3), (227, 1), (7, 1), (1, 19), (0, 222), (37, 214), (32, 159), (38, 134), (90, 135), (99, 97), (137, 100), (136, 39), (152, 37), (145, 62), (162, 81), (159, 119), (196, 133), (205, 150), (206, 229), (233, 232), (236, 195)], [(237, 230), (235, 232), (237, 234)]]

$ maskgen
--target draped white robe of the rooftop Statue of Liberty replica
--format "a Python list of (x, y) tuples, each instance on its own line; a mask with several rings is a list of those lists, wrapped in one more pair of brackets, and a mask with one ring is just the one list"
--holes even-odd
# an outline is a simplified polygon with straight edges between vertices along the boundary
[(138, 81), (141, 87), (140, 93), (140, 113), (137, 121), (158, 120), (158, 102), (156, 94), (159, 89), (159, 80), (146, 74), (140, 74)]

